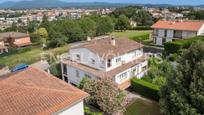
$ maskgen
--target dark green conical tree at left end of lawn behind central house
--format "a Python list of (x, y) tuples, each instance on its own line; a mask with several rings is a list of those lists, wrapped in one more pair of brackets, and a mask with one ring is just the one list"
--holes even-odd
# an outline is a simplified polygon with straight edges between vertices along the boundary
[(120, 15), (115, 28), (121, 31), (127, 30), (128, 28), (130, 28), (129, 19), (125, 15)]

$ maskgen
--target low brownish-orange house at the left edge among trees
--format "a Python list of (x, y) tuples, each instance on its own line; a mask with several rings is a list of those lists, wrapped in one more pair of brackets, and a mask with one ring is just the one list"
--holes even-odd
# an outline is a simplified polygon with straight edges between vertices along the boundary
[(0, 33), (0, 53), (8, 51), (8, 47), (24, 47), (31, 45), (31, 39), (28, 34), (20, 32)]

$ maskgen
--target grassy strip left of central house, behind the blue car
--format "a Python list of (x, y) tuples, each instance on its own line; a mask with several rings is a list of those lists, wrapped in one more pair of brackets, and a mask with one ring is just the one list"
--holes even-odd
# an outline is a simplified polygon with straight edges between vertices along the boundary
[[(22, 50), (22, 49), (19, 49)], [(59, 55), (68, 50), (68, 46), (42, 50), (40, 47), (32, 47), (28, 51), (18, 51), (14, 54), (0, 56), (0, 64), (7, 65), (10, 68), (21, 63), (32, 64), (41, 59), (42, 53), (53, 53), (54, 55)]]

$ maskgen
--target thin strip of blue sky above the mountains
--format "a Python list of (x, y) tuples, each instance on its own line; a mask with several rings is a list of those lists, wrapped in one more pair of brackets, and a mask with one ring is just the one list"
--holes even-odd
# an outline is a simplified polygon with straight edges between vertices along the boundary
[[(6, 1), (26, 1), (26, 0), (0, 0)], [(39, 0), (40, 1), (40, 0)], [(204, 0), (62, 0), (66, 2), (122, 2), (122, 3), (151, 3), (151, 4), (173, 4), (173, 5), (203, 5)]]

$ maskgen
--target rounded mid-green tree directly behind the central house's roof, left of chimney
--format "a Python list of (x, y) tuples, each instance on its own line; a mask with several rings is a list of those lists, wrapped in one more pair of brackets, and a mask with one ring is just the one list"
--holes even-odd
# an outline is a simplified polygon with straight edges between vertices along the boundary
[(104, 35), (114, 30), (114, 24), (110, 17), (100, 17), (97, 20), (96, 35)]

